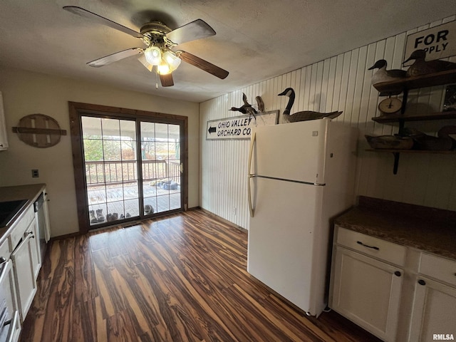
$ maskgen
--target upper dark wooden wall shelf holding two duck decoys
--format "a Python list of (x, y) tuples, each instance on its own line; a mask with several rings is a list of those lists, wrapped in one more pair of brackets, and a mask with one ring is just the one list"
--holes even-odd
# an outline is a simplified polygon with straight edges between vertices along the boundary
[(373, 87), (387, 95), (397, 93), (399, 90), (411, 90), (432, 86), (442, 86), (448, 83), (456, 83), (456, 69), (440, 71), (440, 73), (428, 73), (426, 75), (401, 78), (398, 81), (382, 82)]

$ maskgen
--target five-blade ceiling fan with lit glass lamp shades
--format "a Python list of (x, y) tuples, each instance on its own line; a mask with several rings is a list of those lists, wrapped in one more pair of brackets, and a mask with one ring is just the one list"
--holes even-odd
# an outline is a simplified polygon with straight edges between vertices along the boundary
[(161, 21), (150, 21), (149, 23), (142, 25), (140, 32), (137, 32), (78, 6), (63, 6), (63, 9), (73, 14), (78, 14), (79, 16), (84, 16), (93, 21), (97, 21), (99, 24), (128, 33), (130, 36), (140, 38), (142, 42), (145, 43), (146, 48), (128, 48), (90, 61), (87, 63), (89, 66), (99, 68), (100, 66), (107, 66), (115, 61), (120, 61), (123, 58), (140, 55), (138, 58), (140, 62), (149, 71), (154, 70), (160, 76), (160, 82), (163, 87), (174, 86), (172, 71), (176, 70), (180, 65), (180, 61), (185, 61), (186, 63), (196, 66), (221, 79), (228, 76), (228, 71), (219, 68), (208, 61), (204, 61), (204, 59), (199, 58), (192, 53), (182, 50), (172, 50), (172, 48), (181, 43), (215, 35), (214, 29), (202, 19), (197, 19), (189, 24), (175, 28), (174, 30), (171, 30)]

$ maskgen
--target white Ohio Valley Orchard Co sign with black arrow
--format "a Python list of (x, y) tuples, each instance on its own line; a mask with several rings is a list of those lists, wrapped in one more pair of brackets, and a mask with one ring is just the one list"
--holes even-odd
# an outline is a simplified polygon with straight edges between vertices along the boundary
[(279, 110), (252, 115), (241, 115), (233, 118), (208, 120), (206, 140), (250, 139), (255, 126), (276, 125), (279, 120)]

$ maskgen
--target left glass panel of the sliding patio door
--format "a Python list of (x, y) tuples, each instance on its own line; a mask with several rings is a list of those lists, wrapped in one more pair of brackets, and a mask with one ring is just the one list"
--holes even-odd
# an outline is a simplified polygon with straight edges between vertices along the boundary
[(90, 225), (140, 216), (135, 120), (82, 116)]

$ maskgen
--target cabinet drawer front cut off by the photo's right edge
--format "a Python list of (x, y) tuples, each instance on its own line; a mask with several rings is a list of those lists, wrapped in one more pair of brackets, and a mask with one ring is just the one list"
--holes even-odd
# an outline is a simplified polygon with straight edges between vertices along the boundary
[(456, 261), (422, 253), (420, 274), (432, 276), (432, 278), (456, 286)]

